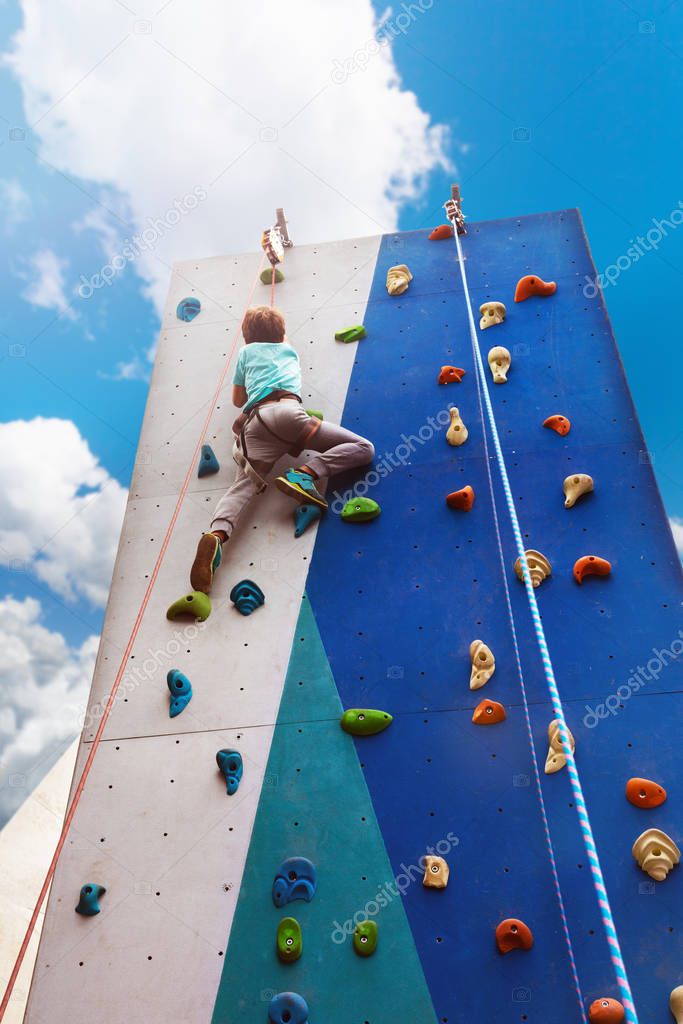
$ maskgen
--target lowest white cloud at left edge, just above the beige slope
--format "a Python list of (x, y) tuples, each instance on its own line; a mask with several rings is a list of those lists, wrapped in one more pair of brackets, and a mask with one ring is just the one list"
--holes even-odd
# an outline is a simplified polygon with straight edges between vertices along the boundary
[(97, 637), (70, 647), (41, 614), (34, 598), (0, 600), (0, 818), (78, 733), (94, 668)]

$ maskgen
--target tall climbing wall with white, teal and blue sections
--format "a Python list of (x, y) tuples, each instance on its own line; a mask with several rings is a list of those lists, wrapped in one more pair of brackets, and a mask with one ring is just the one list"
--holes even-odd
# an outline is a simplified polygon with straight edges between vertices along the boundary
[[(230, 542), (211, 616), (168, 622), (232, 474), (228, 375), (207, 434), (221, 469), (194, 478), (171, 536), (57, 868), (30, 1024), (265, 1022), (285, 990), (306, 999), (313, 1024), (581, 1020), (532, 778), (455, 243), (427, 233), (288, 252), (275, 302), (301, 356), (304, 402), (370, 437), (374, 470), (335, 479), (331, 513), (300, 539), (271, 488)], [(578, 213), (471, 224), (464, 252), (475, 306), (508, 307), (505, 324), (479, 334), (484, 360), (493, 345), (512, 353), (508, 383), (492, 386), (496, 419), (525, 543), (553, 566), (538, 599), (636, 1006), (641, 1020), (665, 1024), (669, 992), (683, 982), (681, 868), (653, 883), (631, 847), (651, 826), (682, 838), (680, 564), (606, 312), (583, 295), (593, 264)], [(414, 280), (390, 298), (386, 271), (397, 263)], [(250, 255), (174, 270), (81, 766), (242, 313), (269, 301), (259, 268)], [(555, 280), (557, 293), (513, 303), (530, 272)], [(191, 324), (175, 314), (185, 296), (202, 305)], [(359, 323), (365, 340), (334, 341)], [(439, 386), (443, 364), (462, 367), (463, 382)], [(445, 440), (452, 404), (469, 429), (459, 449)], [(553, 413), (570, 419), (567, 436), (543, 429)], [(554, 716), (492, 471), (543, 774)], [(565, 510), (562, 481), (574, 472), (590, 473), (595, 493)], [(447, 508), (445, 495), (465, 484), (472, 511)], [(380, 503), (379, 518), (342, 521), (354, 485)], [(579, 587), (571, 570), (584, 554), (608, 558), (612, 574)], [(266, 596), (246, 618), (228, 601), (244, 578)], [(475, 638), (496, 654), (484, 693), (469, 689)], [(194, 688), (174, 719), (170, 668)], [(505, 706), (505, 722), (473, 725), (482, 697)], [(339, 727), (348, 708), (393, 721), (353, 738)], [(231, 797), (215, 764), (222, 748), (244, 760)], [(667, 802), (632, 807), (631, 776), (664, 784)], [(617, 996), (567, 772), (543, 775), (543, 790), (584, 999)], [(447, 888), (422, 885), (428, 853), (447, 861)], [(279, 909), (271, 886), (291, 856), (312, 861), (317, 890)], [(86, 882), (108, 890), (94, 918), (73, 909)], [(286, 914), (303, 935), (293, 964), (275, 955)], [(379, 926), (368, 958), (352, 944), (364, 918)], [(505, 918), (531, 928), (530, 951), (498, 953)]]

